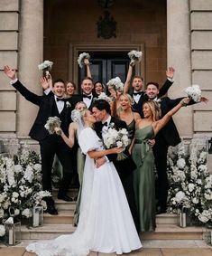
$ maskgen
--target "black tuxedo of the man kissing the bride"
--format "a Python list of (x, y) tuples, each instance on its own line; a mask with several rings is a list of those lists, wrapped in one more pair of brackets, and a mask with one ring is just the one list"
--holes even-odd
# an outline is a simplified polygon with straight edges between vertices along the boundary
[[(119, 130), (120, 128), (127, 128), (126, 123), (123, 120), (115, 119), (114, 117), (111, 117), (110, 124), (114, 124), (114, 127), (116, 130)], [(95, 130), (97, 132), (97, 136), (102, 138), (102, 128), (103, 125), (101, 122), (97, 122), (95, 124)], [(128, 153), (128, 149), (125, 149), (124, 151), (125, 155), (128, 155), (128, 157), (124, 160), (117, 161), (117, 154), (111, 154), (107, 155), (107, 158), (109, 161), (113, 162), (115, 165), (115, 169), (117, 170), (117, 173), (122, 181), (122, 185), (124, 187), (124, 192), (128, 201), (128, 204), (130, 206), (131, 213), (134, 218), (134, 224), (136, 226), (136, 229), (138, 231), (138, 214), (137, 209), (134, 201), (134, 175), (133, 171), (135, 168), (134, 161), (132, 157)]]

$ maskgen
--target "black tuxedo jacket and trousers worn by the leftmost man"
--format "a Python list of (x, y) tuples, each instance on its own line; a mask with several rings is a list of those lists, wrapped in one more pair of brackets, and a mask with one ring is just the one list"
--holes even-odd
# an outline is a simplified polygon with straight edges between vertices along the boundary
[(70, 112), (72, 108), (64, 102), (64, 108), (59, 113), (54, 95), (39, 96), (27, 90), (20, 81), (13, 84), (26, 100), (31, 101), (39, 107), (37, 117), (29, 133), (30, 137), (38, 140), (41, 147), (41, 171), (42, 189), (51, 192), (51, 167), (53, 157), (56, 154), (63, 166), (63, 178), (60, 185), (60, 194), (65, 194), (69, 188), (72, 176), (71, 150), (60, 136), (50, 135), (44, 125), (49, 117), (58, 116), (61, 120), (61, 128), (69, 136)]

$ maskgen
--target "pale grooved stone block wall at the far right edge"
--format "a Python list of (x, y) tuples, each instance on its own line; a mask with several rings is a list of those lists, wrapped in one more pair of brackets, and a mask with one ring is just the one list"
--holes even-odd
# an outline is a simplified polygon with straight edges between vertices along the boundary
[(212, 1), (190, 0), (191, 80), (207, 104), (193, 107), (194, 133), (212, 136)]

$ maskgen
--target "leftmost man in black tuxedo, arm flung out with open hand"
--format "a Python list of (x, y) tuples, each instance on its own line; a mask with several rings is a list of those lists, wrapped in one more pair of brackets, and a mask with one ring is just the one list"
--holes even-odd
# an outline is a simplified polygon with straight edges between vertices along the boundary
[[(57, 116), (61, 120), (61, 128), (69, 137), (69, 123), (70, 112), (72, 108), (66, 104), (63, 98), (65, 92), (64, 81), (58, 80), (54, 82), (53, 93), (51, 96), (38, 96), (32, 91), (27, 90), (23, 84), (15, 78), (15, 71), (10, 67), (5, 66), (5, 74), (12, 80), (11, 83), (16, 90), (18, 90), (26, 100), (39, 106), (38, 115), (32, 125), (29, 133), (30, 137), (39, 141), (41, 147), (41, 172), (42, 172), (42, 189), (52, 192), (51, 187), (51, 168), (53, 157), (58, 156), (61, 165), (63, 166), (63, 177), (60, 184), (58, 198), (64, 201), (72, 201), (67, 195), (69, 185), (72, 178), (70, 148), (66, 145), (63, 139), (57, 134), (50, 135), (44, 125), (49, 117)], [(47, 212), (51, 214), (58, 214), (52, 197), (46, 198)]]

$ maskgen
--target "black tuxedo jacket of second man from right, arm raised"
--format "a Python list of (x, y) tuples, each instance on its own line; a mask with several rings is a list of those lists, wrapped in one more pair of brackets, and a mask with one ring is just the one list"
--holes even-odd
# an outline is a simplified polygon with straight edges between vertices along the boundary
[[(170, 89), (171, 84), (173, 82), (169, 81), (168, 79), (165, 81), (161, 89), (159, 90), (158, 98), (161, 98), (161, 96), (165, 95), (167, 91)], [(134, 93), (131, 94), (131, 96), (134, 98)], [(145, 94), (144, 91), (141, 92), (140, 98), (138, 102), (134, 102), (134, 105), (132, 106), (134, 110), (136, 110), (141, 117), (143, 118), (143, 102), (148, 100), (148, 96)]]

